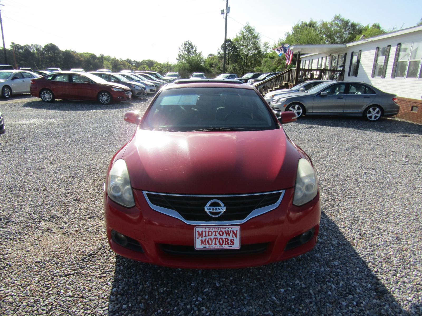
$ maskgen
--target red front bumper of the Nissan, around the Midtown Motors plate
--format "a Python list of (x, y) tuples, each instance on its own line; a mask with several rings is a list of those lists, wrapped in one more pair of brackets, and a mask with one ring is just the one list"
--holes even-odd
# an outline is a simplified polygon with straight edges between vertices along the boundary
[[(133, 193), (135, 207), (130, 209), (114, 203), (104, 193), (104, 214), (110, 247), (117, 254), (133, 260), (174, 268), (241, 268), (296, 257), (310, 251), (317, 242), (321, 217), (319, 194), (312, 201), (298, 207), (292, 205), (294, 188), (289, 188), (276, 209), (240, 224), (239, 250), (257, 249), (251, 255), (247, 252), (220, 254), (209, 250), (196, 250), (193, 254), (192, 251), (171, 251), (193, 248), (195, 225), (154, 211), (141, 190), (133, 190)], [(292, 238), (312, 229), (313, 236), (308, 242), (285, 250)], [(119, 245), (113, 240), (112, 232), (124, 234), (141, 248), (133, 250), (133, 247), (130, 249)]]

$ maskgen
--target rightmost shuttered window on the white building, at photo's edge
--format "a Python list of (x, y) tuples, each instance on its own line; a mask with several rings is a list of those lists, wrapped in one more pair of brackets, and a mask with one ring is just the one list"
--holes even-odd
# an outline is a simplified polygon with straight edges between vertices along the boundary
[(399, 53), (395, 60), (395, 77), (422, 78), (422, 42), (404, 43), (398, 49)]

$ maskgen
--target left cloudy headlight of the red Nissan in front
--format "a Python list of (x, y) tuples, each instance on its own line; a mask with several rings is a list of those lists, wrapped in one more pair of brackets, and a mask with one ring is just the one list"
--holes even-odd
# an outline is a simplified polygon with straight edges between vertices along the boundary
[(108, 174), (107, 195), (111, 200), (125, 207), (135, 206), (129, 173), (123, 159), (118, 159)]

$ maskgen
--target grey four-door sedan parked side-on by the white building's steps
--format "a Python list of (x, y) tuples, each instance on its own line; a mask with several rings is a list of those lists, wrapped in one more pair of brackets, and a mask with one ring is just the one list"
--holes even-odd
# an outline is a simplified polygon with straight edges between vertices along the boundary
[(306, 92), (274, 97), (271, 108), (276, 115), (293, 111), (302, 115), (353, 115), (368, 121), (399, 111), (397, 96), (385, 93), (367, 83), (337, 81), (321, 83)]

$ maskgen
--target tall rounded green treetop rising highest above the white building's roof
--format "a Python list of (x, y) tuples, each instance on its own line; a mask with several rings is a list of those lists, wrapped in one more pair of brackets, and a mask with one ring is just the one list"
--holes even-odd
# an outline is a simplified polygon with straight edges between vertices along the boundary
[(362, 34), (360, 23), (351, 22), (336, 14), (330, 22), (319, 23), (319, 33), (327, 44), (345, 44), (355, 40)]

